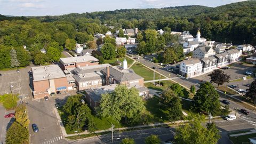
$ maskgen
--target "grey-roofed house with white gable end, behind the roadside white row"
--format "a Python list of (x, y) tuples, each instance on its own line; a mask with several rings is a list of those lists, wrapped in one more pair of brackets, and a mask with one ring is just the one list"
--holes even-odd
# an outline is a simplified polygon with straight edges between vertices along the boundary
[(208, 58), (212, 55), (215, 55), (215, 51), (210, 46), (201, 46), (198, 47), (195, 51), (193, 51), (193, 58)]

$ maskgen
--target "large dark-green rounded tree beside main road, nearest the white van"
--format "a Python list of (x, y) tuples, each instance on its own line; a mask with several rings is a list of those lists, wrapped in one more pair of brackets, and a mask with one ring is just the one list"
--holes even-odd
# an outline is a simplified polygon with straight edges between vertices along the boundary
[(220, 109), (219, 94), (211, 83), (202, 83), (193, 100), (195, 110), (218, 114)]

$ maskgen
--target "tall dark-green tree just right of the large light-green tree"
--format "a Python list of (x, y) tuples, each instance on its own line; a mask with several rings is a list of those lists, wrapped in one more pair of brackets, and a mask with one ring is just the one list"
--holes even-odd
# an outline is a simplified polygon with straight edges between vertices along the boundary
[(180, 98), (171, 89), (163, 92), (161, 103), (168, 119), (175, 121), (182, 118), (183, 114), (180, 101)]

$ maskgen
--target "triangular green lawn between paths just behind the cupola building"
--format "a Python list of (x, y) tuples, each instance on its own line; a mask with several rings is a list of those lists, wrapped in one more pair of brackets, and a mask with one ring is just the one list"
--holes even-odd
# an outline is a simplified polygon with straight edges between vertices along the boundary
[[(138, 62), (134, 63), (131, 68), (135, 71), (136, 74), (144, 77), (144, 81), (151, 81), (154, 79), (154, 71), (145, 66), (142, 66)], [(162, 76), (162, 78), (165, 77)], [(155, 79), (159, 79), (159, 74), (155, 73)]]

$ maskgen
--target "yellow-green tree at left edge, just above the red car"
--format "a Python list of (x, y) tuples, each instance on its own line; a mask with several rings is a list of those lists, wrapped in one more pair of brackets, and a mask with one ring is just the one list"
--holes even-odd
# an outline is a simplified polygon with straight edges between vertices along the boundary
[(0, 97), (0, 103), (3, 103), (5, 109), (13, 109), (17, 106), (19, 98), (15, 94), (4, 94)]

